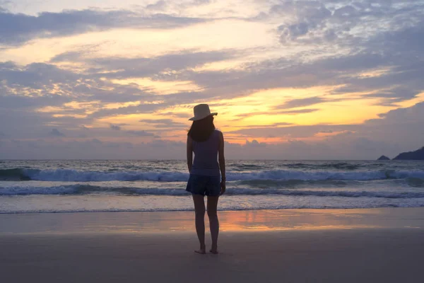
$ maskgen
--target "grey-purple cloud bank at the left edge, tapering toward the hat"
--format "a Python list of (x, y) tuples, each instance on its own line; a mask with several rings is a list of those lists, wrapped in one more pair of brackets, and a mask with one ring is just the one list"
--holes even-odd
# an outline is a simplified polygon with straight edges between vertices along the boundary
[[(209, 57), (208, 54), (193, 54), (190, 59), (190, 54), (182, 54), (182, 58), (178, 58), (177, 54), (172, 56), (157, 58), (158, 62), (163, 62), (162, 65), (156, 66), (160, 71), (166, 69), (170, 65), (166, 65), (167, 59), (170, 59), (170, 64), (184, 64), (192, 62), (192, 66), (204, 64)], [(196, 60), (204, 60), (197, 62)], [(206, 61), (205, 61), (206, 60)], [(131, 60), (126, 61), (131, 67)], [(174, 62), (174, 63), (172, 63)], [(178, 62), (178, 63), (177, 63)], [(187, 66), (187, 65), (186, 65)], [(3, 79), (0, 81), (0, 108), (28, 108), (28, 111), (35, 111), (37, 108), (57, 106), (60, 108), (56, 113), (52, 114), (67, 114), (67, 115), (85, 115), (87, 109), (70, 108), (64, 106), (65, 103), (70, 103), (73, 100), (84, 103), (92, 103), (97, 110), (90, 112), (85, 118), (85, 123), (90, 120), (107, 115), (131, 114), (134, 112), (153, 112), (160, 108), (165, 108), (178, 103), (191, 102), (192, 94), (178, 93), (176, 95), (167, 96), (168, 102), (156, 103), (164, 97), (155, 96), (153, 93), (141, 91), (136, 86), (122, 86), (111, 83), (110, 81), (102, 81), (97, 74), (77, 74), (72, 71), (60, 69), (52, 64), (29, 64), (25, 67), (17, 67), (11, 62), (0, 64), (0, 76)], [(54, 94), (52, 93), (54, 92)], [(143, 100), (143, 103), (136, 106), (122, 107), (116, 109), (102, 109), (105, 103), (122, 103), (134, 102)], [(148, 103), (150, 102), (150, 103)], [(9, 113), (13, 113), (10, 111)], [(18, 113), (16, 113), (18, 114)], [(179, 115), (179, 114), (175, 114)], [(53, 117), (50, 117), (54, 120)]]

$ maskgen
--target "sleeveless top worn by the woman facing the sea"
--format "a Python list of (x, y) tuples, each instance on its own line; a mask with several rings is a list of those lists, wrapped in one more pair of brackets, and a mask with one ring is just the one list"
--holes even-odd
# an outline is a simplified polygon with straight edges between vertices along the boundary
[(215, 129), (206, 141), (193, 140), (193, 175), (219, 176), (218, 146), (220, 131)]

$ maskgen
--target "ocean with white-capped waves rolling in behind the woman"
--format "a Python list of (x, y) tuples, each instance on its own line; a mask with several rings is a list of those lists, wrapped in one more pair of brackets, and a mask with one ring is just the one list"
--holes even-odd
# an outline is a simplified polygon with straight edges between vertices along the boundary
[[(227, 161), (220, 210), (424, 207), (423, 161)], [(0, 161), (0, 213), (192, 210), (186, 161)]]

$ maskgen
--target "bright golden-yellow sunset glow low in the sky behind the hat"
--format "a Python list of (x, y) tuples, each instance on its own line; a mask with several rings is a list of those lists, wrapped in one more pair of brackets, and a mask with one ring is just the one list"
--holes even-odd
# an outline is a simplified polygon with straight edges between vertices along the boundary
[[(212, 111), (218, 111), (218, 117), (216, 117), (216, 126), (221, 129), (223, 132), (231, 132), (237, 129), (244, 129), (245, 127), (269, 127), (272, 125), (277, 125), (273, 127), (290, 127), (291, 125), (284, 125), (284, 123), (290, 123), (293, 125), (317, 125), (317, 124), (326, 124), (326, 125), (341, 125), (341, 124), (360, 124), (365, 122), (365, 120), (378, 118), (378, 114), (381, 112), (387, 112), (388, 110), (395, 109), (395, 107), (382, 106), (378, 105), (378, 98), (361, 98), (360, 95), (357, 95), (357, 99), (352, 100), (336, 100), (323, 103), (317, 103), (317, 105), (311, 105), (307, 108), (317, 108), (319, 109), (316, 112), (310, 113), (300, 113), (296, 115), (288, 114), (273, 114), (273, 111), (278, 111), (273, 109), (273, 103), (276, 103), (275, 97), (283, 98), (281, 100), (281, 105), (285, 101), (300, 98), (308, 98), (312, 93), (315, 96), (327, 97), (326, 93), (331, 91), (334, 87), (326, 88), (306, 88), (306, 89), (271, 89), (266, 91), (259, 91), (253, 93), (251, 96), (233, 98), (233, 99), (224, 99), (216, 100), (210, 103)], [(335, 96), (328, 96), (329, 98), (335, 98)], [(338, 97), (338, 96), (336, 96)], [(350, 96), (351, 97), (351, 96)], [(187, 113), (191, 115), (192, 107), (197, 103), (189, 105), (179, 105), (172, 108), (166, 108), (160, 112), (155, 112), (153, 114), (131, 114), (131, 115), (117, 115), (113, 117), (102, 117), (98, 119), (95, 124), (100, 127), (109, 127), (110, 124), (124, 124), (125, 129), (137, 130), (142, 129), (146, 131), (157, 131), (163, 128), (156, 128), (152, 124), (143, 124), (139, 122), (143, 119), (165, 119), (171, 118), (175, 122), (187, 124), (187, 129), (191, 122), (187, 121), (187, 118), (183, 117), (170, 117), (170, 115), (162, 115), (162, 113), (176, 113), (182, 114)], [(214, 106), (216, 104), (216, 106)], [(280, 103), (279, 103), (280, 104)], [(117, 108), (119, 105), (114, 105)], [(120, 105), (122, 106), (122, 105)], [(307, 109), (295, 108), (295, 110)], [(366, 111), (365, 111), (366, 109)], [(263, 114), (267, 112), (268, 114)], [(259, 113), (259, 114), (255, 114)], [(246, 115), (246, 117), (241, 117), (237, 119), (237, 115)], [(281, 123), (281, 124), (278, 124)], [(184, 141), (186, 135), (186, 129), (175, 129), (172, 130), (172, 127), (169, 131), (162, 134), (164, 139), (169, 139), (172, 141)], [(297, 140), (302, 141), (317, 141), (326, 139), (336, 134), (342, 134), (343, 132), (333, 132), (333, 133), (318, 133), (312, 137), (301, 137), (296, 138)], [(239, 134), (226, 134), (225, 138), (227, 141), (235, 144), (245, 144), (246, 137)], [(249, 136), (248, 140), (252, 141), (256, 139), (259, 142), (266, 142), (269, 144), (274, 144), (278, 142), (284, 142), (290, 139), (288, 137), (261, 137), (261, 136)]]

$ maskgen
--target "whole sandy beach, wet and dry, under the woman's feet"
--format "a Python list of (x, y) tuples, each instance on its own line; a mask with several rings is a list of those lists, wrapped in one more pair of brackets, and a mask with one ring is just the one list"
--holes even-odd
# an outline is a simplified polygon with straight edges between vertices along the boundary
[(422, 208), (220, 212), (219, 255), (192, 252), (192, 214), (1, 214), (1, 282), (422, 279)]

